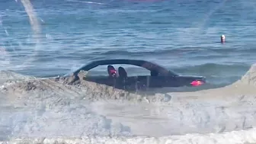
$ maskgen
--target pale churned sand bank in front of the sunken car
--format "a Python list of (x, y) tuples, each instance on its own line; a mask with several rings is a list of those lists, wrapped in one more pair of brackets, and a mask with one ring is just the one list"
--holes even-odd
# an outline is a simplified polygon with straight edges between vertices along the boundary
[(239, 81), (223, 88), (142, 94), (75, 83), (72, 76), (34, 78), (2, 71), (1, 140), (256, 142), (255, 72), (252, 66)]

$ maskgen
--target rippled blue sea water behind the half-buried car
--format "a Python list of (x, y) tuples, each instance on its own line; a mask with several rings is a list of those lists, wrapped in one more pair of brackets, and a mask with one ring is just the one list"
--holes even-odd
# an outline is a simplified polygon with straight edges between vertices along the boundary
[(0, 3), (0, 68), (26, 75), (63, 75), (98, 59), (145, 59), (223, 85), (256, 59), (254, 0), (35, 0), (40, 37), (20, 0)]

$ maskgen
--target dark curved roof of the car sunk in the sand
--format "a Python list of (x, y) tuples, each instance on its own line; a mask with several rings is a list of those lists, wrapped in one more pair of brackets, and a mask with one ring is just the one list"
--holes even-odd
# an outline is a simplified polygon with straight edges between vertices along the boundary
[(145, 69), (148, 69), (149, 71), (156, 71), (162, 74), (171, 74), (171, 75), (177, 75), (174, 72), (169, 71), (168, 69), (165, 69), (163, 66), (159, 66), (158, 64), (155, 64), (154, 62), (149, 62), (146, 60), (136, 60), (136, 59), (103, 59), (103, 60), (96, 60), (93, 62), (89, 62), (85, 66), (82, 66), (81, 68), (75, 70), (75, 75), (78, 74), (81, 70), (89, 71), (90, 69), (93, 69), (97, 66), (104, 66), (104, 65), (117, 65), (117, 64), (127, 64), (127, 65), (133, 65), (133, 66), (139, 66), (143, 67)]

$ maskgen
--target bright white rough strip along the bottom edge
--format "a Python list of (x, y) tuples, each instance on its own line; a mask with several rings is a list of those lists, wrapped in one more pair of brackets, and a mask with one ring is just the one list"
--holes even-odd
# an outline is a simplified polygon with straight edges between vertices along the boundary
[(81, 137), (72, 138), (53, 138), (53, 139), (13, 139), (10, 143), (87, 143), (87, 144), (245, 144), (256, 142), (256, 129), (232, 131), (221, 134), (187, 134), (184, 136), (165, 136), (165, 137)]

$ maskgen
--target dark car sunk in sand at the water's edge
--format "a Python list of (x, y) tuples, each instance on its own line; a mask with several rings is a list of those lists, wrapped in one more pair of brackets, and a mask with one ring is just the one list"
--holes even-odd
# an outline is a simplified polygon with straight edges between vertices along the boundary
[[(126, 64), (133, 66), (140, 66), (150, 71), (151, 75), (137, 75), (128, 76), (126, 70), (123, 67), (118, 68), (118, 72), (114, 69), (117, 64)], [(195, 87), (204, 85), (206, 78), (203, 76), (191, 76), (191, 75), (178, 75), (175, 72), (171, 72), (162, 66), (159, 66), (153, 62), (147, 62), (145, 60), (133, 60), (133, 59), (105, 59), (90, 62), (80, 69), (73, 72), (75, 75), (80, 70), (90, 71), (97, 66), (107, 66), (108, 75), (106, 76), (90, 76), (86, 75), (84, 80), (89, 82), (96, 82), (103, 85), (109, 85), (114, 88), (120, 88), (124, 90), (142, 90), (146, 88), (164, 88), (164, 87)]]

